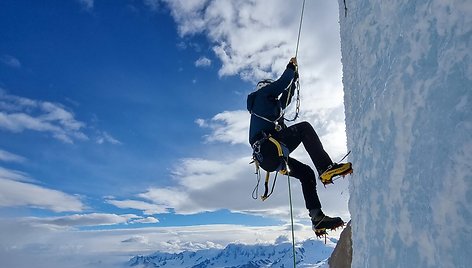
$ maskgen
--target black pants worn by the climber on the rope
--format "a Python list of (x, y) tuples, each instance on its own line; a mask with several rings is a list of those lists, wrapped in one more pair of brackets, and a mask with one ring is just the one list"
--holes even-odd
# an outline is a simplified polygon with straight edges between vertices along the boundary
[[(316, 134), (315, 130), (308, 122), (300, 122), (283, 129), (275, 133), (274, 137), (279, 142), (285, 144), (290, 152), (293, 152), (300, 143), (303, 143), (303, 146), (310, 155), (320, 175), (333, 163), (329, 155), (323, 149), (318, 134)], [(297, 178), (302, 184), (306, 208), (308, 210), (321, 208), (320, 199), (316, 192), (316, 175), (313, 169), (291, 157), (288, 159), (288, 166), (290, 168), (290, 176)]]

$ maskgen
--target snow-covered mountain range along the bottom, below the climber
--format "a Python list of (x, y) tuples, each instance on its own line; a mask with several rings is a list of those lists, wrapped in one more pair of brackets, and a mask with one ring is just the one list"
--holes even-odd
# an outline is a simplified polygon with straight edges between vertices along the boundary
[[(296, 245), (297, 267), (322, 267), (336, 246), (336, 239), (308, 239)], [(293, 267), (292, 244), (229, 244), (224, 249), (205, 249), (181, 253), (156, 252), (129, 260), (130, 267)]]

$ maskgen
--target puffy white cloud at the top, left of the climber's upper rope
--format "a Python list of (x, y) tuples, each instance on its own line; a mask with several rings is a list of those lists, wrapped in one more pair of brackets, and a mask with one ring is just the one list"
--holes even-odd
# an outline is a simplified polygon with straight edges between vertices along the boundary
[(220, 75), (239, 74), (248, 80), (274, 76), (295, 48), (297, 19), (293, 14), (299, 10), (291, 2), (166, 2), (182, 36), (207, 35), (223, 63)]

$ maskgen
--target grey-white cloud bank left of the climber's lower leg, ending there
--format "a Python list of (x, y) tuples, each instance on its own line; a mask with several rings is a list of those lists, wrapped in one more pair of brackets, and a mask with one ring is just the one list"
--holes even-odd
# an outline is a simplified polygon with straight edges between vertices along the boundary
[[(254, 167), (249, 165), (249, 161), (249, 157), (233, 157), (229, 160), (184, 159), (175, 169), (178, 172), (173, 174), (177, 186), (152, 187), (138, 196), (184, 215), (229, 209), (286, 217), (286, 183), (279, 180), (276, 187), (278, 194), (271, 197), (270, 202), (253, 200), (251, 193), (256, 180)], [(299, 197), (296, 198), (296, 203), (300, 205), (299, 213), (306, 214)]]

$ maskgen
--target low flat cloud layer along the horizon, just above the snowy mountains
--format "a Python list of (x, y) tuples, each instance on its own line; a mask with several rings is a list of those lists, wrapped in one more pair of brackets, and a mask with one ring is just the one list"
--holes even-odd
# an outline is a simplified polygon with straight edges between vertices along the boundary
[[(274, 243), (289, 236), (285, 226), (203, 225), (79, 231), (50, 228), (28, 219), (0, 219), (2, 266), (121, 267), (133, 255), (224, 248), (229, 243)], [(297, 240), (313, 237), (297, 229)]]

